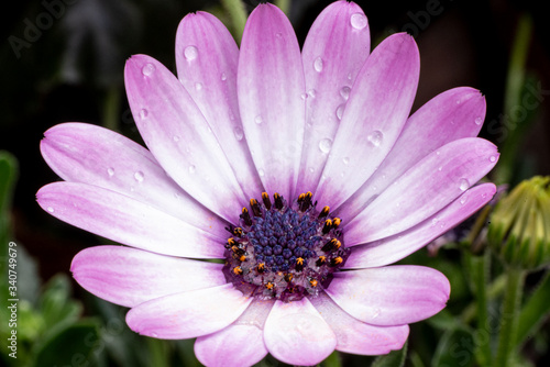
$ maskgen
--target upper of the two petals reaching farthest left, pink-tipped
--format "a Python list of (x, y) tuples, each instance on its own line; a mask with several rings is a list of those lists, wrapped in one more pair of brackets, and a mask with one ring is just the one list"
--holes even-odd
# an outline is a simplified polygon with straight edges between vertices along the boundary
[(227, 222), (182, 190), (140, 144), (85, 123), (59, 124), (44, 136), (40, 145), (42, 155), (64, 180), (122, 193), (200, 230), (227, 235)]

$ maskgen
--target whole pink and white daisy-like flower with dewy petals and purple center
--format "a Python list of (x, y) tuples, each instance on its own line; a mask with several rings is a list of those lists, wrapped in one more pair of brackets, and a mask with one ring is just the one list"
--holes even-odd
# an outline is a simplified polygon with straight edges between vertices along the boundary
[[(145, 55), (125, 66), (148, 151), (82, 123), (42, 141), (66, 182), (43, 187), (40, 205), (130, 246), (77, 254), (85, 289), (131, 308), (140, 334), (198, 337), (208, 366), (385, 354), (444, 308), (442, 274), (387, 265), (494, 194), (473, 186), (498, 158), (475, 137), (479, 91), (448, 90), (409, 116), (414, 38), (370, 54), (366, 16), (346, 1), (318, 16), (301, 53), (272, 4), (252, 12), (240, 51), (215, 16), (189, 14), (176, 64), (178, 78)], [(210, 258), (226, 264), (197, 260)]]

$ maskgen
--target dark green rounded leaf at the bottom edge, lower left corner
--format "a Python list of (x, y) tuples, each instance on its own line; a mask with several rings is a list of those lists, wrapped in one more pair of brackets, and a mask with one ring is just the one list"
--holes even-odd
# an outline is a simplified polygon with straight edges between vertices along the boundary
[(99, 340), (99, 325), (85, 320), (68, 325), (37, 347), (34, 366), (85, 366)]

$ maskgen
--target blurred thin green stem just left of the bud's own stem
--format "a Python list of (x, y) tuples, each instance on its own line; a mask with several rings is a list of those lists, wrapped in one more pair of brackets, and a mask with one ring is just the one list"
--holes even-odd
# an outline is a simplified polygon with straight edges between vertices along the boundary
[[(475, 299), (477, 308), (477, 333), (487, 334), (488, 311), (487, 311), (487, 281), (491, 254), (485, 252), (482, 256), (471, 257), (472, 281), (475, 288)], [(480, 366), (491, 366), (493, 356), (491, 354), (491, 343), (487, 338), (485, 343), (476, 343), (475, 356)]]

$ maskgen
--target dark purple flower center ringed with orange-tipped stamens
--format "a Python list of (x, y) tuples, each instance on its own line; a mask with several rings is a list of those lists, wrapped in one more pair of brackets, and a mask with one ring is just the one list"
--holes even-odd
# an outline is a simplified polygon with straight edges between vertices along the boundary
[(316, 210), (311, 192), (288, 203), (266, 192), (250, 200), (240, 225), (231, 225), (223, 274), (228, 282), (250, 297), (285, 302), (316, 297), (350, 255), (343, 245), (341, 220), (329, 207)]

